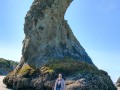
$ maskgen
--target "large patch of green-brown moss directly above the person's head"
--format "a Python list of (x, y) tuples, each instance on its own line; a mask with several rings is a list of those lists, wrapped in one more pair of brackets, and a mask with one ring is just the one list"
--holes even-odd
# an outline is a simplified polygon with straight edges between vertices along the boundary
[(99, 70), (97, 67), (88, 64), (86, 62), (82, 62), (80, 60), (75, 60), (72, 58), (64, 58), (64, 59), (51, 59), (45, 67), (52, 70), (52, 72), (59, 74), (62, 73), (64, 76), (69, 76), (74, 73), (98, 73)]

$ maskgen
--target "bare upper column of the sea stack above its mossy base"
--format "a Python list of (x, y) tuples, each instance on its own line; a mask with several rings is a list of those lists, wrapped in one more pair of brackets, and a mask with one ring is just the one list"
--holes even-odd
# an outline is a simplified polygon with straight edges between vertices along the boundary
[(39, 68), (51, 58), (72, 57), (93, 64), (64, 14), (72, 0), (35, 0), (25, 17), (23, 62)]

